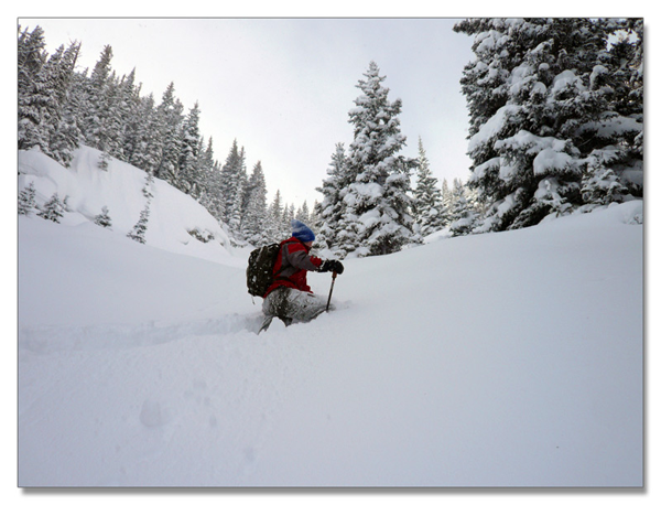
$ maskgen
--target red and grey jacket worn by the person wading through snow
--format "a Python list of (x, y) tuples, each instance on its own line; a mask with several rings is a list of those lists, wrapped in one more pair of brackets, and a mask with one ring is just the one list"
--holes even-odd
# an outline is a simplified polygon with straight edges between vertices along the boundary
[(312, 292), (307, 286), (307, 270), (317, 271), (323, 260), (310, 255), (310, 249), (297, 238), (291, 237), (280, 243), (280, 253), (273, 266), (273, 283), (264, 298), (275, 288), (284, 286), (300, 291)]

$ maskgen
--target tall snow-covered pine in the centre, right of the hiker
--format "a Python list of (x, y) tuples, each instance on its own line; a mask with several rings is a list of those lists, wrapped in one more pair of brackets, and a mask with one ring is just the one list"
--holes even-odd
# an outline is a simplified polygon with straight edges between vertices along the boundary
[(387, 255), (416, 240), (408, 195), (415, 160), (398, 154), (407, 140), (398, 118), (402, 103), (389, 101), (375, 62), (364, 75), (357, 85), (362, 94), (349, 111), (354, 141), (347, 164), (357, 175), (343, 197), (340, 256)]

